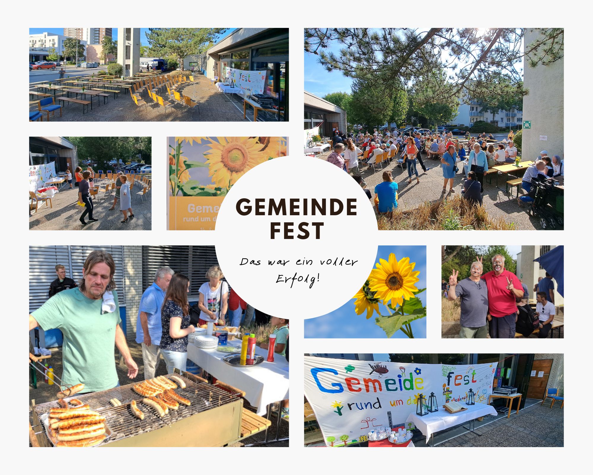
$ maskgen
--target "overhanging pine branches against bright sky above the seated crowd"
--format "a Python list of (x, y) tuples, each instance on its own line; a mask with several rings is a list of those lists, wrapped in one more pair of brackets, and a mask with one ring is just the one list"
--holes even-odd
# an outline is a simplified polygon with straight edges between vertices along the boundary
[[(318, 55), (327, 71), (341, 71), (350, 78), (371, 77), (385, 93), (393, 86), (413, 84), (432, 71), (448, 72), (446, 87), (433, 90), (428, 102), (447, 103), (469, 90), (472, 97), (504, 95), (494, 78), (508, 74), (517, 92), (525, 95), (519, 62), (535, 67), (564, 56), (564, 30), (532, 29), (537, 40), (522, 46), (525, 29), (492, 28), (310, 28), (305, 29), (305, 52)], [(327, 47), (338, 43), (337, 53)], [(381, 71), (388, 81), (372, 77)]]

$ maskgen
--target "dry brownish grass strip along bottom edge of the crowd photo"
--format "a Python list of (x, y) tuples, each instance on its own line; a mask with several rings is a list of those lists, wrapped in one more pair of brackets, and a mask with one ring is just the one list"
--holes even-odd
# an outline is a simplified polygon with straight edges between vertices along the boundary
[(414, 210), (400, 210), (377, 217), (380, 230), (431, 229), (431, 230), (512, 230), (514, 223), (502, 217), (491, 219), (486, 208), (470, 204), (455, 196), (446, 201), (425, 201)]

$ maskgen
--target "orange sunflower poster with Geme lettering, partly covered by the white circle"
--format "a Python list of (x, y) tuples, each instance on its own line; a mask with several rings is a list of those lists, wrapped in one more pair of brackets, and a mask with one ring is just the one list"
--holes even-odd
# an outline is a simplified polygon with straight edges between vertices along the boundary
[(213, 230), (237, 180), (287, 154), (286, 137), (169, 137), (167, 229)]

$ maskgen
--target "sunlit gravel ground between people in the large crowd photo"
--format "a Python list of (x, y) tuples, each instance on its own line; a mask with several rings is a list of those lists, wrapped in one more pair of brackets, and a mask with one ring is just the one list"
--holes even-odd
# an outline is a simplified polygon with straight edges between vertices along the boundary
[[(329, 151), (321, 154), (320, 157), (323, 160), (327, 159)], [(383, 164), (383, 167), (375, 166), (376, 172), (373, 172), (372, 167), (362, 172), (362, 178), (366, 182), (366, 187), (371, 191), (375, 189), (375, 185), (382, 182), (382, 174), (385, 170), (391, 172), (393, 181), (398, 186), (398, 209), (410, 210), (416, 208), (419, 204), (425, 201), (440, 201), (447, 199), (451, 194), (447, 191), (445, 198), (442, 195), (442, 169), (441, 162), (438, 160), (428, 159), (425, 156), (422, 157), (425, 166), (430, 169), (427, 172), (423, 172), (420, 163), (416, 163), (416, 169), (418, 170), (420, 183), (416, 184), (415, 175), (413, 175), (412, 183), (407, 184), (408, 175), (407, 169), (401, 169), (397, 166), (393, 160), (389, 164)], [(461, 168), (460, 168), (461, 170)], [(517, 191), (514, 191), (514, 198), (511, 199), (511, 192), (506, 193), (503, 190), (496, 188), (496, 178), (493, 179), (492, 184), (488, 182), (489, 178), (484, 180), (484, 197), (483, 205), (488, 211), (491, 218), (502, 217), (507, 223), (515, 223), (515, 228), (519, 230), (534, 230), (542, 229), (538, 219), (525, 211), (525, 208), (520, 208), (517, 204)], [(455, 193), (461, 194), (461, 185), (464, 181), (463, 175), (458, 174), (454, 179), (453, 189)], [(499, 180), (499, 186), (505, 185), (505, 181)], [(449, 189), (447, 185), (447, 190)], [(373, 194), (374, 198), (374, 194)]]

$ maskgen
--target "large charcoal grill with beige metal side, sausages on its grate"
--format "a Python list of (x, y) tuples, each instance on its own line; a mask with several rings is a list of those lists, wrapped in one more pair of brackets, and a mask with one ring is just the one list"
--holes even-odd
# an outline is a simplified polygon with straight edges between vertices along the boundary
[[(152, 407), (142, 403), (142, 396), (132, 389), (137, 382), (73, 397), (106, 417), (111, 436), (98, 446), (224, 446), (241, 438), (243, 399), (240, 391), (226, 385), (209, 384), (205, 379), (187, 372), (177, 376), (183, 379), (186, 388), (178, 387), (175, 391), (192, 404), (180, 404), (178, 410), (169, 410), (164, 417), (158, 417)], [(122, 406), (111, 406), (109, 401), (113, 398), (119, 399)], [(66, 398), (66, 401), (70, 399)], [(138, 408), (144, 413), (144, 420), (133, 415), (130, 408), (132, 400), (136, 400)], [(52, 407), (58, 407), (56, 401), (33, 406), (33, 431), (42, 447), (52, 446), (40, 422), (41, 415)]]

